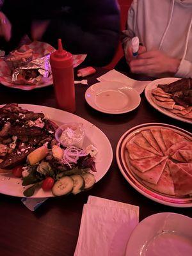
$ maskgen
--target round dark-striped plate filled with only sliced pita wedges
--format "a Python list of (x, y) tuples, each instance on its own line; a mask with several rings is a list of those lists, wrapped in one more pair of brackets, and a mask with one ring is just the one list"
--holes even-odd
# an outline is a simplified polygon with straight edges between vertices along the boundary
[(174, 207), (192, 206), (192, 134), (148, 123), (125, 132), (116, 147), (118, 167), (142, 195)]

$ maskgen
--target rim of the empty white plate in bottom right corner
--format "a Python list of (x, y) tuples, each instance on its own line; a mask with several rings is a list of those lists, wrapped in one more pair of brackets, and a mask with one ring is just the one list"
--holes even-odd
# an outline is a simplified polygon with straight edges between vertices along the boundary
[[(131, 248), (131, 243), (132, 243), (132, 239), (135, 240), (134, 237), (138, 236), (137, 233), (140, 232), (140, 229), (143, 226), (143, 223), (145, 225), (145, 222), (147, 222), (148, 220), (152, 219), (152, 221), (154, 222), (154, 220), (156, 220), (156, 218), (158, 218), (158, 216), (163, 216), (163, 218), (166, 218), (166, 216), (178, 216), (182, 221), (183, 220), (188, 220), (191, 221), (192, 224), (192, 219), (189, 216), (186, 216), (184, 214), (180, 214), (180, 213), (176, 213), (176, 212), (158, 212), (156, 214), (152, 214), (150, 216), (147, 216), (146, 218), (144, 218), (143, 220), (140, 221), (140, 223), (138, 223), (138, 225), (134, 228), (134, 230), (131, 233), (131, 236), (129, 236), (129, 239), (127, 241), (127, 246), (126, 246), (126, 250), (125, 250), (125, 256), (128, 256), (130, 254), (130, 248)], [(144, 239), (144, 238), (143, 238)], [(133, 241), (134, 242), (134, 241)], [(127, 250), (129, 250), (129, 252), (127, 252)], [(139, 256), (139, 255), (138, 255)]]

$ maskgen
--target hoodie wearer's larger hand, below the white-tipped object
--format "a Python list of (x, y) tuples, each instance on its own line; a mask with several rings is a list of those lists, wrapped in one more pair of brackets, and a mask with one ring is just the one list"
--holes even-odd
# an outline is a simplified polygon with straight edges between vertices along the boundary
[(153, 77), (167, 72), (175, 74), (179, 65), (179, 59), (172, 58), (161, 51), (144, 52), (129, 63), (132, 73)]

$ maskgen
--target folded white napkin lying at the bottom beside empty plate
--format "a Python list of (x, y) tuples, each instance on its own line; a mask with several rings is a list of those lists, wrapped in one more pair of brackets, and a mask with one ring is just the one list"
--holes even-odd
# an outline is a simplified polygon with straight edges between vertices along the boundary
[(89, 196), (84, 204), (74, 256), (123, 256), (139, 207)]

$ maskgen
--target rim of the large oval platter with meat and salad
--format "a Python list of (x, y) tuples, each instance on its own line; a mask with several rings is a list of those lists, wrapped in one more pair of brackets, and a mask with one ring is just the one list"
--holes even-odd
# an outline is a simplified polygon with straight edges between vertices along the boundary
[[(0, 108), (2, 108), (2, 107), (5, 106), (5, 105), (6, 105), (6, 104), (1, 104), (1, 105), (0, 105)], [(83, 124), (90, 125), (90, 127), (94, 127), (95, 131), (99, 132), (100, 135), (104, 138), (105, 143), (106, 143), (106, 145), (108, 145), (108, 150), (109, 150), (109, 151), (108, 151), (108, 152), (109, 152), (108, 164), (106, 164), (106, 168), (105, 168), (104, 172), (100, 173), (100, 176), (99, 176), (98, 179), (96, 179), (96, 182), (95, 182), (95, 183), (99, 182), (99, 180), (101, 180), (101, 179), (104, 177), (104, 175), (106, 175), (106, 173), (109, 171), (109, 168), (110, 168), (111, 163), (112, 163), (112, 161), (113, 161), (113, 148), (112, 148), (112, 146), (111, 146), (111, 142), (110, 142), (109, 139), (108, 139), (108, 136), (106, 136), (106, 134), (104, 134), (104, 132), (101, 131), (101, 130), (99, 129), (99, 127), (97, 127), (96, 125), (92, 124), (92, 123), (89, 122), (88, 120), (82, 118), (81, 116), (77, 116), (77, 115), (75, 115), (75, 114), (73, 114), (73, 113), (69, 113), (69, 112), (64, 111), (64, 110), (61, 110), (61, 109), (52, 108), (52, 107), (49, 107), (49, 106), (36, 105), (36, 104), (19, 104), (19, 106), (22, 107), (22, 108), (26, 108), (26, 109), (28, 109), (28, 106), (29, 106), (29, 108), (36, 108), (36, 107), (38, 107), (38, 108), (40, 108), (39, 111), (42, 112), (42, 113), (44, 113), (44, 109), (48, 109), (48, 111), (51, 111), (51, 110), (52, 110), (52, 111), (53, 111), (53, 110), (55, 111), (55, 110), (56, 110), (56, 111), (58, 111), (58, 112), (60, 112), (60, 113), (65, 113), (65, 114), (67, 114), (67, 115), (74, 116), (74, 117), (76, 117), (76, 118), (79, 120), (79, 122), (83, 122)], [(34, 110), (34, 111), (35, 111), (35, 110)], [(48, 114), (45, 113), (45, 116), (46, 116), (46, 115), (49, 115), (49, 113), (48, 113)], [(55, 122), (55, 120), (53, 120), (53, 121)], [(94, 141), (93, 141), (93, 142), (94, 142)], [(20, 181), (20, 178), (17, 178), (17, 181), (19, 182), (19, 181)], [(18, 196), (18, 195), (11, 195), (11, 194), (9, 194), (9, 193), (3, 193), (3, 192), (0, 192), (0, 194), (8, 195), (8, 196), (16, 196), (16, 197), (20, 197), (20, 198), (25, 197), (25, 196), (23, 196), (23, 195), (20, 195), (20, 196)], [(30, 198), (46, 198), (46, 197), (54, 197), (54, 195), (47, 195), (46, 192), (45, 192), (45, 195), (44, 195), (44, 196), (31, 196)]]

